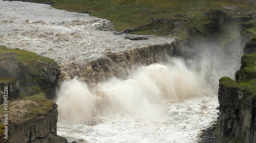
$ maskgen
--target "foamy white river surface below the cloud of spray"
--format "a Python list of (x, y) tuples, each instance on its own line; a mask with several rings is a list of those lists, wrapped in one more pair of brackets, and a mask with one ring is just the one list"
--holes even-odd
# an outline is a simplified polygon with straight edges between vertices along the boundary
[(160, 116), (153, 121), (109, 112), (81, 123), (59, 119), (58, 134), (70, 140), (83, 138), (89, 142), (197, 142), (200, 130), (216, 120), (217, 106), (218, 97), (208, 95), (162, 102), (155, 106)]

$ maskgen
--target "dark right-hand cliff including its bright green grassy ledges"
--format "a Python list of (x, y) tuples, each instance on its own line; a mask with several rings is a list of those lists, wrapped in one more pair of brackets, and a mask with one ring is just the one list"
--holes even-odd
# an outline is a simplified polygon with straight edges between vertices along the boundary
[(220, 142), (237, 138), (256, 142), (256, 53), (242, 56), (236, 81), (223, 77), (219, 84)]

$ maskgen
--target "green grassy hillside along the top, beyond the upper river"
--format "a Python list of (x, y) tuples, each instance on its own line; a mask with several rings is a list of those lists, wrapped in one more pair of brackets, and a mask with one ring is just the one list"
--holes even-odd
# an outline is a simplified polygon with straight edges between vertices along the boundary
[[(209, 34), (205, 25), (210, 21), (204, 18), (204, 12), (211, 9), (220, 10), (224, 5), (232, 5), (237, 11), (251, 10), (256, 7), (233, 1), (223, 0), (24, 0), (25, 2), (48, 3), (53, 8), (79, 13), (91, 13), (92, 16), (111, 20), (117, 31), (125, 28), (134, 28), (135, 34), (169, 35), (179, 36), (183, 39), (186, 26), (197, 27), (199, 31)], [(228, 13), (228, 16), (243, 16), (238, 12)], [(173, 23), (156, 23), (154, 19), (165, 19), (177, 22), (178, 32), (174, 30)], [(233, 36), (233, 35), (232, 35)], [(236, 36), (234, 36), (236, 37)]]

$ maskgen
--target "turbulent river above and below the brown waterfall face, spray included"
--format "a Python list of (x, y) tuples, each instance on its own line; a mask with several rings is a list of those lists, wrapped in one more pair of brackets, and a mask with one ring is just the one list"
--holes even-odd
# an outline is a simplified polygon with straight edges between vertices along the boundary
[[(0, 45), (48, 56), (63, 69), (97, 58), (105, 48), (123, 50), (174, 39), (130, 41), (99, 31), (106, 19), (49, 5), (0, 1)], [(233, 78), (240, 60), (214, 46), (195, 59), (140, 66), (128, 79), (111, 78), (89, 88), (63, 81), (57, 92), (58, 135), (77, 142), (197, 142), (217, 119), (218, 79)], [(241, 49), (232, 50), (236, 57)]]

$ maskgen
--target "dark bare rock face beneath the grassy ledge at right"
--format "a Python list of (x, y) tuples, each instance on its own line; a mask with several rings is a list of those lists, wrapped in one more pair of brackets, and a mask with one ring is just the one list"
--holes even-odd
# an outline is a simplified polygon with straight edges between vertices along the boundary
[(242, 142), (256, 142), (256, 98), (227, 87), (219, 88), (220, 135), (237, 137)]

